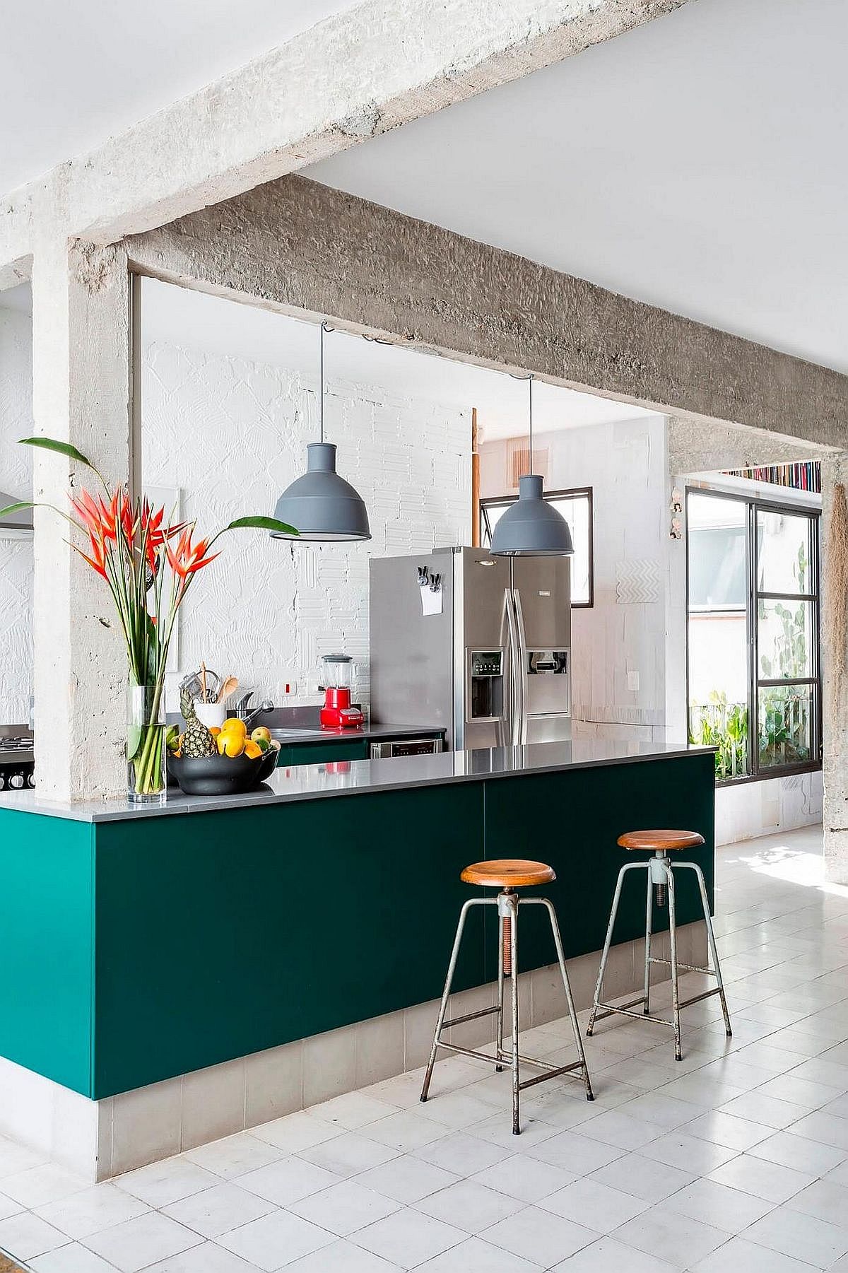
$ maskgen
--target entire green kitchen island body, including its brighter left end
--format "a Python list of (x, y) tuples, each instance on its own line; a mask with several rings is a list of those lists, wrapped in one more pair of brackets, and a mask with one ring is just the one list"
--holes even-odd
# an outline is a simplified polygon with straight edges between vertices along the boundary
[[(462, 904), (494, 896), (460, 881), (483, 858), (549, 862), (567, 953), (597, 951), (625, 830), (700, 831), (712, 897), (713, 792), (696, 754), (97, 824), (1, 808), (0, 1054), (102, 1099), (435, 999)], [(637, 878), (616, 941), (643, 933)], [(699, 913), (681, 875), (679, 920)], [(519, 967), (554, 959), (525, 908)], [(474, 906), (455, 987), (495, 976)]]

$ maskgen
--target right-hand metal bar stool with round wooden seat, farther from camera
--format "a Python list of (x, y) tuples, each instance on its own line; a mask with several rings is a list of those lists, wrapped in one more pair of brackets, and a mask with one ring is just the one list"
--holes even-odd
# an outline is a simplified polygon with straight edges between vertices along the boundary
[[(597, 985), (595, 988), (595, 1001), (592, 1003), (592, 1011), (590, 1013), (588, 1027), (586, 1030), (587, 1036), (591, 1037), (595, 1029), (596, 1021), (602, 1021), (605, 1017), (611, 1016), (614, 1012), (621, 1013), (625, 1017), (635, 1017), (638, 1021), (648, 1020), (656, 1021), (657, 1025), (671, 1026), (675, 1032), (675, 1059), (681, 1059), (680, 1050), (680, 1009), (689, 1007), (690, 1003), (700, 1003), (702, 999), (709, 999), (713, 994), (718, 994), (722, 1001), (722, 1013), (724, 1016), (724, 1030), (727, 1031), (727, 1037), (732, 1035), (730, 1016), (727, 1012), (727, 999), (724, 998), (724, 983), (722, 981), (722, 969), (718, 962), (718, 951), (716, 950), (716, 936), (713, 933), (713, 922), (709, 917), (709, 901), (707, 900), (707, 886), (704, 883), (704, 873), (696, 862), (681, 862), (675, 859), (674, 862), (668, 857), (671, 852), (677, 852), (680, 849), (695, 849), (704, 843), (703, 835), (696, 831), (626, 831), (624, 835), (619, 836), (618, 840), (620, 848), (623, 849), (640, 849), (649, 850), (653, 853), (652, 858), (647, 862), (626, 862), (619, 871), (619, 878), (615, 885), (615, 896), (612, 899), (612, 911), (610, 914), (610, 925), (606, 931), (606, 941), (604, 942), (604, 955), (601, 956), (601, 967), (597, 975)], [(691, 964), (680, 964), (677, 961), (677, 929), (675, 918), (675, 878), (672, 875), (672, 867), (676, 869), (694, 871), (698, 880), (698, 887), (700, 890), (700, 903), (704, 910), (704, 922), (707, 924), (707, 939), (709, 942), (709, 951), (713, 960), (712, 967), (694, 967)], [(611, 1003), (604, 1003), (601, 1001), (601, 988), (604, 985), (604, 973), (606, 970), (606, 960), (610, 953), (610, 945), (612, 942), (612, 929), (615, 927), (615, 917), (619, 910), (619, 901), (621, 899), (621, 885), (624, 883), (624, 877), (628, 871), (647, 871), (648, 872), (648, 900), (646, 905), (646, 927), (644, 927), (644, 994), (640, 994), (638, 999), (630, 999), (629, 1003), (623, 1003), (621, 1007), (615, 1007)], [(651, 953), (651, 936), (652, 936), (652, 918), (653, 918), (653, 903), (654, 903), (654, 889), (656, 889), (656, 904), (657, 906), (665, 906), (666, 895), (668, 897), (668, 945), (671, 959), (656, 959)], [(666, 964), (671, 966), (671, 1006), (672, 1006), (672, 1021), (667, 1021), (665, 1017), (651, 1016), (651, 965), (652, 964)], [(690, 999), (684, 999), (680, 1002), (680, 995), (677, 993), (677, 970), (686, 969), (688, 973), (705, 973), (708, 976), (714, 976), (717, 985), (712, 990), (704, 990), (703, 994), (694, 994)], [(642, 1012), (633, 1012), (637, 1004), (644, 1004)], [(598, 1012), (598, 1008), (602, 1011)]]

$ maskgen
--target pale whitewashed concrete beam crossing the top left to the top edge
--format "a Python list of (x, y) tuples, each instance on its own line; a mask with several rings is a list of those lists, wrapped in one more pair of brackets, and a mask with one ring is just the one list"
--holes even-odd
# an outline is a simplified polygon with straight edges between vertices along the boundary
[[(0, 266), (67, 191), (112, 243), (578, 53), (685, 0), (367, 0), (0, 201)], [(17, 241), (17, 243), (15, 243)]]

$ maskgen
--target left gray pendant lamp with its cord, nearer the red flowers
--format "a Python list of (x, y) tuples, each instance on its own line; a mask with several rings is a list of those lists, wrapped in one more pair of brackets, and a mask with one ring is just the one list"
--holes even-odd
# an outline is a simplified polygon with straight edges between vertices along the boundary
[(323, 440), (323, 334), (321, 323), (321, 442), (307, 444), (307, 471), (295, 477), (276, 502), (274, 517), (297, 527), (299, 535), (271, 531), (275, 540), (345, 541), (369, 540), (368, 512), (362, 496), (336, 472), (336, 448)]

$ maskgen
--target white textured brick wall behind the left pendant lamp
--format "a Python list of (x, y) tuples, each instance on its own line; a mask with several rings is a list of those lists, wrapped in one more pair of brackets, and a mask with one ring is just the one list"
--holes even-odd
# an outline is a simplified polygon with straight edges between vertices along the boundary
[[(326, 435), (368, 507), (368, 544), (288, 545), (236, 532), (186, 602), (182, 668), (205, 658), (257, 698), (314, 681), (323, 653), (359, 659), (367, 698), (368, 558), (467, 542), (471, 412), (329, 381)], [(145, 485), (180, 488), (182, 513), (213, 530), (272, 513), (317, 440), (317, 381), (280, 367), (153, 342), (145, 350)]]

